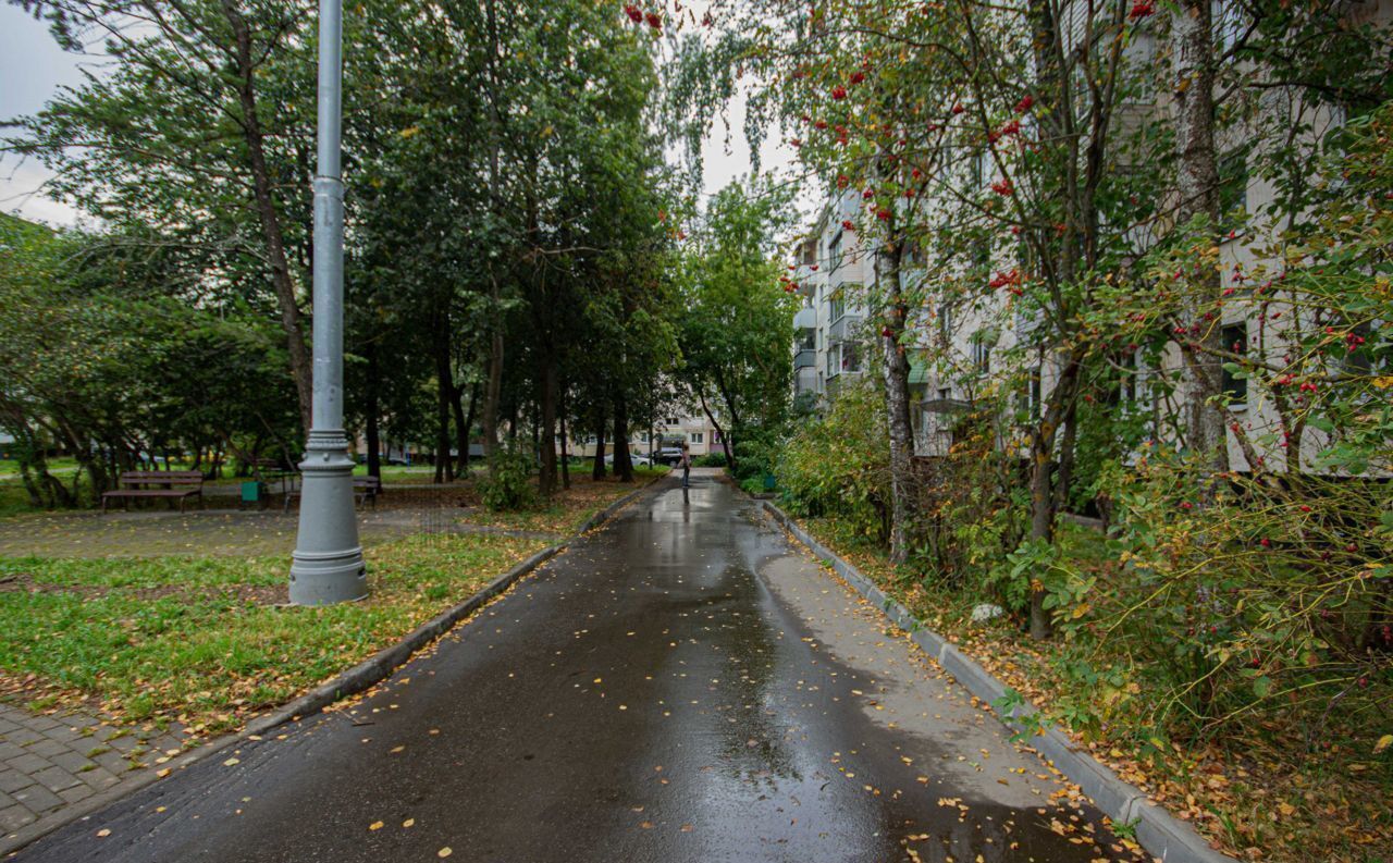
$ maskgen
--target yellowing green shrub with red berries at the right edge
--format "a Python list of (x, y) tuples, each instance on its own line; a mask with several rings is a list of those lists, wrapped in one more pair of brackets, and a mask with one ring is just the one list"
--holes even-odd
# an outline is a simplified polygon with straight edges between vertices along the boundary
[[(1156, 725), (1213, 728), (1276, 704), (1339, 704), (1358, 724), (1393, 703), (1393, 334), (1375, 323), (1393, 319), (1390, 132), (1393, 106), (1350, 124), (1312, 210), (1277, 237), (1282, 273), (1252, 274), (1262, 328), (1284, 338), (1226, 358), (1248, 409), (1272, 418), (1233, 422), (1250, 469), (1213, 480), (1149, 447), (1099, 477), (1121, 567), (1068, 597), (1066, 626), (1145, 670), (1165, 693)], [(1158, 252), (1153, 273), (1177, 281), (1180, 255)]]

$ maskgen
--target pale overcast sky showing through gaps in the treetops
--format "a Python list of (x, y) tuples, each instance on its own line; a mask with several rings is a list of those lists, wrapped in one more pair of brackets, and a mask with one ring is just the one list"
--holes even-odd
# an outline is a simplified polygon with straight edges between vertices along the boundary
[[(82, 67), (99, 68), (91, 57), (60, 50), (45, 24), (0, 0), (0, 121), (38, 111), (60, 86), (81, 84)], [(751, 170), (742, 100), (730, 106), (729, 118), (729, 142), (717, 120), (702, 146), (702, 185), (708, 195)], [(781, 171), (793, 164), (794, 153), (779, 135), (772, 135), (761, 148), (761, 157), (765, 171)], [(74, 224), (78, 213), (72, 207), (43, 196), (47, 178), (49, 171), (36, 161), (0, 159), (0, 210), (50, 224)]]

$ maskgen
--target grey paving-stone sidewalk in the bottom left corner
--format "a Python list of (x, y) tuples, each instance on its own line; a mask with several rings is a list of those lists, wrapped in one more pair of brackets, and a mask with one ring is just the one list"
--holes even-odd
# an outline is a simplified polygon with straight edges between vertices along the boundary
[(116, 727), (86, 713), (43, 715), (0, 703), (0, 832), (137, 784), (184, 749), (178, 728)]

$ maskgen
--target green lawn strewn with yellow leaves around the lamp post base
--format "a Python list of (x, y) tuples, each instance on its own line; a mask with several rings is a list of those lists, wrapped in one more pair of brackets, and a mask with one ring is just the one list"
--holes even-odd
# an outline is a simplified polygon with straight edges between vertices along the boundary
[[(412, 536), (368, 550), (372, 594), (286, 607), (286, 560), (0, 558), (0, 674), (36, 706), (221, 731), (391, 644), (545, 539)], [(17, 688), (14, 681), (36, 675)]]

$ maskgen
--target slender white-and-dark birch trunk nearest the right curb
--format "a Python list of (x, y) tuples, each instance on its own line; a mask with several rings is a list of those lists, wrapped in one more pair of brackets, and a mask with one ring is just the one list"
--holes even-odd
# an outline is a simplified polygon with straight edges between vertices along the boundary
[(875, 278), (885, 296), (885, 409), (890, 432), (890, 562), (910, 557), (914, 519), (914, 423), (910, 418), (910, 358), (900, 344), (908, 306), (900, 287), (904, 244), (890, 225), (890, 239), (876, 252)]

